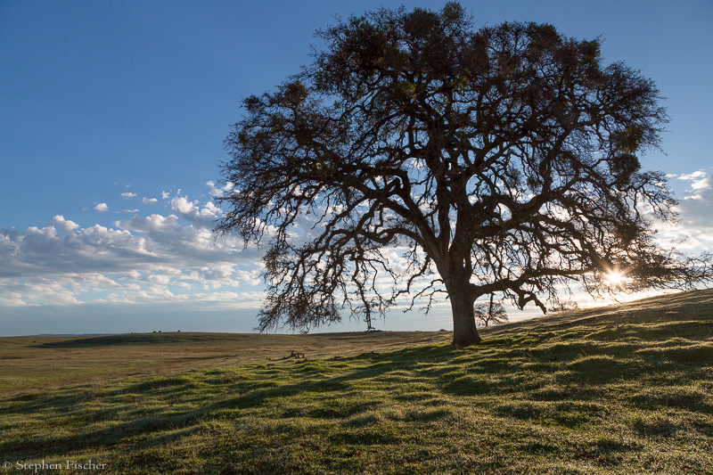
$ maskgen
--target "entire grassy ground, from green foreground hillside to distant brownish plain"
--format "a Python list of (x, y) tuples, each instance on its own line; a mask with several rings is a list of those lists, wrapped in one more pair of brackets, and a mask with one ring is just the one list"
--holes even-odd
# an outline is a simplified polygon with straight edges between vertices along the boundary
[[(448, 332), (0, 339), (0, 463), (713, 473), (713, 291), (484, 336), (472, 348)], [(267, 361), (292, 350), (307, 360)]]

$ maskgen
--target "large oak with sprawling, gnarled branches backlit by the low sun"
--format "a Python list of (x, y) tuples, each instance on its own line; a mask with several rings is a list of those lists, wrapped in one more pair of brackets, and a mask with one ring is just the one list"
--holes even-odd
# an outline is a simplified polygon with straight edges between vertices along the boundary
[(652, 80), (602, 64), (598, 40), (473, 30), (455, 3), (317, 36), (311, 64), (245, 99), (225, 139), (234, 189), (217, 231), (267, 244), (260, 331), (345, 309), (370, 322), (405, 294), (428, 311), (444, 292), (468, 345), (482, 295), (545, 311), (570, 283), (602, 291), (615, 266), (630, 291), (710, 275), (652, 240), (676, 201), (639, 157), (667, 116)]

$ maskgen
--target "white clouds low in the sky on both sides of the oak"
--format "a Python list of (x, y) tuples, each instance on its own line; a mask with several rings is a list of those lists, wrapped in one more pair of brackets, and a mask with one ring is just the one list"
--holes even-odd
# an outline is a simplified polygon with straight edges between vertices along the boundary
[[(685, 237), (687, 241), (676, 244), (679, 250), (713, 250), (713, 175), (698, 170), (670, 178), (686, 190), (676, 209), (680, 223), (662, 229), (661, 242)], [(88, 216), (94, 223), (78, 222), (86, 215), (57, 215), (25, 231), (0, 229), (0, 314), (16, 315), (15, 323), (22, 315), (45, 315), (37, 312), (59, 307), (84, 308), (82, 315), (99, 307), (111, 307), (116, 314), (116, 308), (126, 306), (147, 315), (176, 306), (255, 315), (264, 296), (260, 252), (243, 250), (237, 237), (211, 232), (221, 213), (211, 197), (230, 191), (232, 184), (218, 188), (208, 182), (206, 187), (208, 196), (202, 200), (180, 190), (160, 192), (160, 198), (123, 192), (115, 198), (138, 208), (111, 211), (101, 202)], [(294, 232), (308, 236), (312, 225), (305, 221)], [(397, 270), (402, 251), (384, 250)], [(438, 307), (447, 316), (447, 302)], [(437, 321), (439, 327), (447, 326), (440, 316)]]

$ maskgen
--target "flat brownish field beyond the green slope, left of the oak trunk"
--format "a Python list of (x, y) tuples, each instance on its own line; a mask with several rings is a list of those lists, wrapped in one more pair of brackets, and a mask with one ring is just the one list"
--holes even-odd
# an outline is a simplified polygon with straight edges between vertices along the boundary
[(451, 332), (350, 332), (314, 335), (134, 333), (101, 337), (0, 338), (0, 394), (63, 384), (103, 384), (136, 375), (266, 363), (291, 354), (352, 356), (443, 343)]

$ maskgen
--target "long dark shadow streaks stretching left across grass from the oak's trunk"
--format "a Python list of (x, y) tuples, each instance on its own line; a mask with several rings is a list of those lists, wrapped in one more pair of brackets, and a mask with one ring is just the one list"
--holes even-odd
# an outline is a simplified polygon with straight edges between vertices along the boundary
[[(8, 455), (11, 458), (18, 458), (18, 460), (37, 456), (52, 457), (70, 453), (80, 453), (87, 449), (110, 448), (119, 444), (128, 443), (132, 438), (149, 435), (154, 436), (152, 441), (142, 441), (142, 446), (152, 444), (163, 445), (193, 434), (195, 430), (199, 430), (198, 424), (200, 422), (220, 419), (222, 417), (221, 412), (225, 410), (250, 410), (261, 405), (269, 404), (270, 401), (275, 398), (294, 397), (304, 392), (324, 393), (325, 395), (333, 393), (335, 399), (340, 399), (340, 396), (348, 391), (351, 383), (355, 381), (373, 379), (384, 373), (413, 367), (414, 358), (423, 361), (437, 358), (438, 356), (444, 355), (444, 353), (447, 353), (447, 351), (443, 348), (423, 347), (409, 348), (387, 354), (351, 356), (347, 359), (353, 363), (363, 363), (365, 366), (353, 372), (332, 377), (320, 377), (313, 381), (300, 381), (294, 384), (284, 384), (269, 388), (247, 387), (243, 389), (246, 392), (240, 396), (219, 400), (181, 414), (176, 414), (175, 410), (167, 404), (162, 410), (152, 415), (141, 417), (130, 422), (113, 424), (111, 427), (102, 428), (100, 430), (92, 430), (86, 433), (73, 433), (69, 436), (48, 435), (41, 438), (4, 440), (0, 442), (0, 453)], [(191, 381), (167, 377), (137, 383), (127, 388), (106, 391), (101, 395), (90, 396), (70, 393), (61, 397), (40, 397), (29, 403), (18, 399), (15, 402), (24, 404), (13, 405), (12, 401), (9, 401), (11, 404), (4, 407), (3, 411), (6, 414), (18, 414), (21, 412), (31, 413), (33, 410), (41, 407), (44, 410), (52, 408), (56, 410), (58, 414), (66, 414), (68, 409), (71, 410), (74, 405), (85, 401), (89, 397), (96, 397), (101, 400), (103, 397), (121, 397), (122, 395), (133, 397), (143, 392), (153, 397), (160, 395), (160, 397), (166, 397), (168, 399), (168, 397), (180, 395), (180, 393), (188, 389), (190, 385)], [(255, 386), (260, 385), (261, 381), (257, 381)], [(343, 397), (341, 400), (342, 402), (334, 407), (325, 406), (323, 408), (316, 408), (304, 415), (314, 418), (344, 418), (365, 413), (373, 409), (374, 406), (373, 404), (365, 404), (364, 401), (350, 403), (344, 400)], [(98, 413), (98, 410), (93, 410), (90, 407), (77, 409), (71, 414), (73, 414), (73, 416), (80, 415), (82, 418), (91, 419), (93, 414)], [(238, 415), (238, 417), (240, 417), (240, 415)], [(102, 420), (108, 419), (105, 417)], [(167, 435), (167, 432), (170, 432), (170, 434)], [(377, 443), (380, 438), (381, 436), (379, 434), (374, 434), (374, 443)]]

